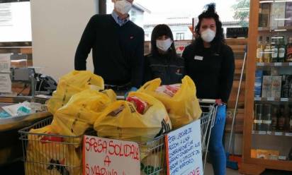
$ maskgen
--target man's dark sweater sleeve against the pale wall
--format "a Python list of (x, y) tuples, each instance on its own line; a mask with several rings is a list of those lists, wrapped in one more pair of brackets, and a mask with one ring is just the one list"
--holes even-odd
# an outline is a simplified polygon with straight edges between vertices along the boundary
[(96, 42), (96, 18), (91, 17), (89, 23), (87, 23), (86, 28), (82, 34), (81, 40), (78, 44), (77, 51), (75, 53), (74, 67), (77, 71), (86, 70), (86, 59), (91, 51), (91, 48)]

